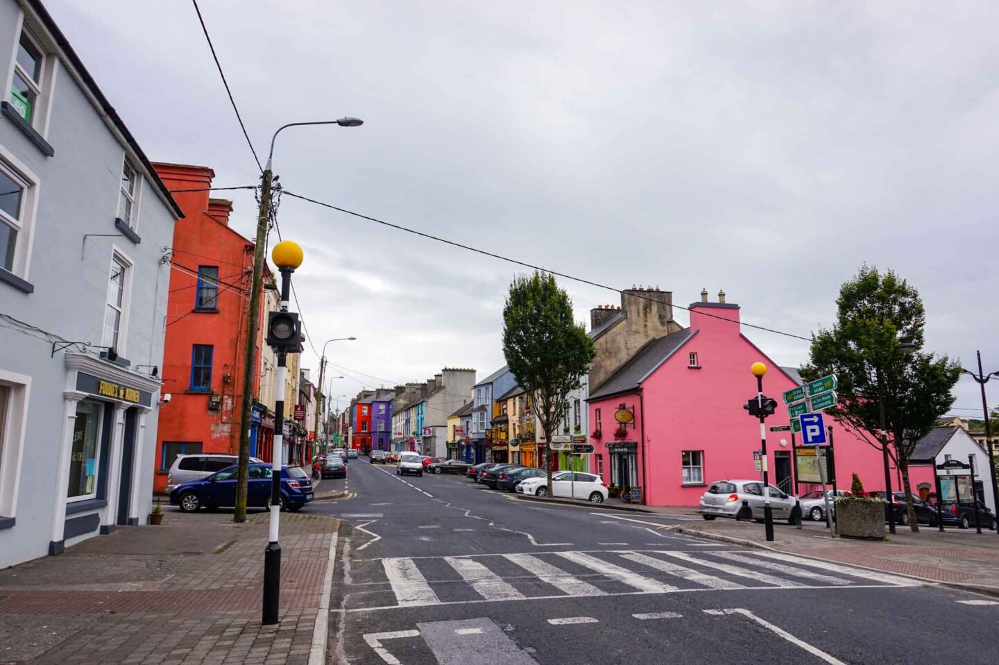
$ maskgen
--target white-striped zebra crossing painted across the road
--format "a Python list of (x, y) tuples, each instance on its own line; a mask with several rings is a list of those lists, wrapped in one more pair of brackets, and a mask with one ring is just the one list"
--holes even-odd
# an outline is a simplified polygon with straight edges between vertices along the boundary
[(747, 589), (915, 586), (762, 550), (572, 550), (355, 561), (347, 612), (501, 601)]

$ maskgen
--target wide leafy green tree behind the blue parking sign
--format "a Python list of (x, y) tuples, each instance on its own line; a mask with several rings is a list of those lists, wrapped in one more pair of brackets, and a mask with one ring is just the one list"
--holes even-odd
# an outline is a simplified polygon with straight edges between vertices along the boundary
[(947, 356), (921, 350), (922, 299), (894, 272), (861, 266), (840, 287), (836, 305), (836, 323), (812, 336), (811, 360), (801, 375), (836, 375), (839, 403), (830, 415), (887, 451), (902, 474), (909, 524), (919, 531), (908, 500), (909, 456), (954, 403), (951, 391), (961, 368)]

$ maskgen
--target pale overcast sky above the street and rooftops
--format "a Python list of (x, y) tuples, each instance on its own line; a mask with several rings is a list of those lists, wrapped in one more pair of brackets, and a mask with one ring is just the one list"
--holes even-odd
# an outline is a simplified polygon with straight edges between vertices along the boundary
[[(282, 124), (365, 120), (283, 133), (289, 191), (681, 305), (724, 289), (743, 322), (804, 336), (859, 265), (891, 268), (922, 293), (929, 350), (999, 369), (999, 5), (751, 4), (201, 7), (262, 160)], [(258, 181), (190, 2), (47, 5), (151, 159)], [(252, 236), (252, 196), (232, 198)], [(329, 346), (354, 377), (331, 394), (502, 364), (515, 266), (288, 197), (280, 224), (316, 346), (359, 338)], [(618, 300), (563, 286), (587, 325)], [(978, 413), (977, 384), (957, 395)]]

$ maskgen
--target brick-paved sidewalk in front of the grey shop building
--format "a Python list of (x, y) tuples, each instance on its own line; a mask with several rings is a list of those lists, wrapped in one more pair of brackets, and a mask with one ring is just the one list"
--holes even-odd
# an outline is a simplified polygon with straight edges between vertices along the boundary
[(308, 663), (339, 523), (281, 522), (279, 625), (260, 623), (267, 513), (168, 510), (0, 571), (0, 663)]

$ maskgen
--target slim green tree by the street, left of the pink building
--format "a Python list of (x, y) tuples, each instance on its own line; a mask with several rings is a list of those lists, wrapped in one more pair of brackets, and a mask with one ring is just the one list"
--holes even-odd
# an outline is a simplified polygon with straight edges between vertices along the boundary
[[(572, 319), (572, 302), (553, 275), (518, 275), (502, 310), (502, 352), (517, 383), (533, 395), (535, 415), (549, 444), (579, 388), (595, 351), (585, 328)], [(548, 497), (551, 458), (547, 456)]]

